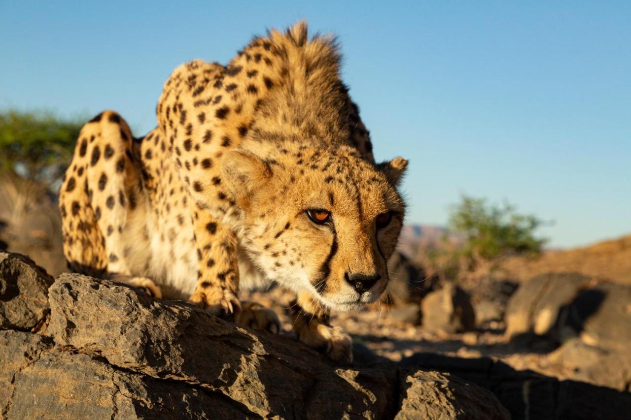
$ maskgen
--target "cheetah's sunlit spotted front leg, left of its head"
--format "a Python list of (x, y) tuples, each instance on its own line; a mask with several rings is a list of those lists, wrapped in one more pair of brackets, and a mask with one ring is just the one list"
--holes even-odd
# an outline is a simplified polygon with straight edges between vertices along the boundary
[(235, 317), (239, 313), (239, 266), (237, 238), (207, 211), (196, 208), (193, 214), (198, 278), (189, 300), (217, 316)]

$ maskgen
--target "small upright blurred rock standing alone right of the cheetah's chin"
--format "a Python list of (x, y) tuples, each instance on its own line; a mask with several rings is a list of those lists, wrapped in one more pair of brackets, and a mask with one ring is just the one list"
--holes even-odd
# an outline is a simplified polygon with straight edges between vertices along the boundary
[(459, 286), (445, 283), (421, 302), (423, 329), (454, 334), (475, 329), (475, 312), (467, 293)]

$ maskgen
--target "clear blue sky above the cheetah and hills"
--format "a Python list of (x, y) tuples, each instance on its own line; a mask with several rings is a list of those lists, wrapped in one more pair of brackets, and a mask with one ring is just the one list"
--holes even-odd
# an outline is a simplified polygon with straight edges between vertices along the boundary
[(628, 1), (0, 0), (0, 108), (114, 108), (143, 134), (175, 66), (301, 18), (338, 35), (377, 159), (410, 159), (409, 222), (464, 192), (555, 221), (553, 247), (631, 233)]

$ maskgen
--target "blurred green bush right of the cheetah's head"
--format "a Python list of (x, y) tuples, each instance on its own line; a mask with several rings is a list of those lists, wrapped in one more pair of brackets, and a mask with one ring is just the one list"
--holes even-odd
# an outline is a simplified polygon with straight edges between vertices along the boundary
[(459, 250), (469, 267), (506, 255), (539, 254), (548, 241), (535, 235), (543, 221), (516, 207), (487, 204), (485, 199), (463, 195), (451, 208), (449, 232), (463, 239)]

